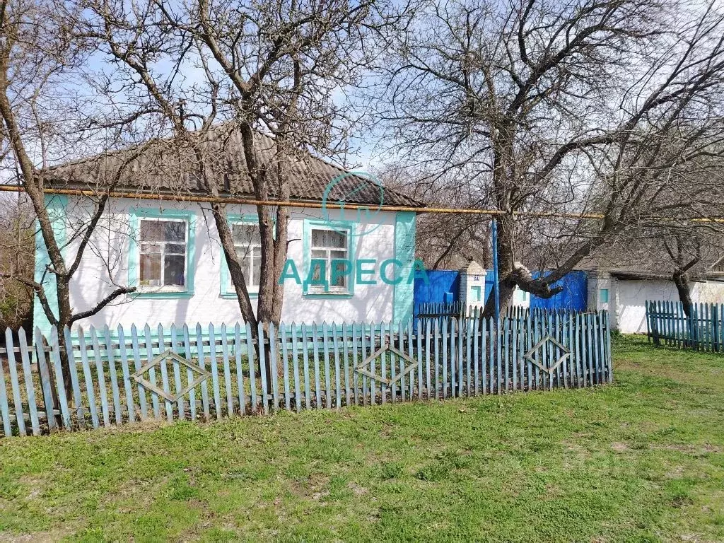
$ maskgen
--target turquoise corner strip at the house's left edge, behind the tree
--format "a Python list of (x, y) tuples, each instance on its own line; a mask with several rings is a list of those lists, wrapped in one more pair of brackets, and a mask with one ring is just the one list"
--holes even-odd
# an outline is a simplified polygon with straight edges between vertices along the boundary
[[(66, 209), (68, 206), (68, 198), (62, 195), (46, 194), (45, 195), (45, 206), (48, 210), (48, 214), (53, 224), (53, 232), (55, 235), (56, 243), (61, 247), (63, 256), (65, 257), (64, 245), (67, 239), (66, 233)], [(50, 272), (46, 273), (46, 266), (50, 264), (50, 257), (48, 256), (48, 249), (46, 248), (45, 240), (41, 234), (38, 221), (35, 221), (35, 282), (43, 285), (45, 290), (46, 298), (48, 303), (53, 310), (53, 314), (59, 316), (58, 309), (58, 287), (55, 282), (55, 275)], [(43, 275), (45, 277), (43, 277)], [(33, 324), (41, 329), (41, 332), (46, 337), (50, 337), (51, 324), (48, 317), (41, 307), (41, 303), (38, 297), (33, 298)]]

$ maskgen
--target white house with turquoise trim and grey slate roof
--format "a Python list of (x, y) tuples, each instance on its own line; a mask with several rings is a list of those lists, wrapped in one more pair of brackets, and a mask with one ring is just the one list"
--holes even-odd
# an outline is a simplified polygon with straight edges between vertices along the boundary
[[(261, 156), (273, 152), (271, 138), (258, 135), (256, 144)], [(261, 266), (257, 211), (256, 206), (240, 203), (253, 198), (253, 190), (234, 132), (224, 133), (219, 149), (214, 172), (221, 198), (229, 202), (228, 218), (254, 298)], [(51, 172), (47, 205), (56, 236), (68, 244), (68, 254), (75, 254), (78, 233), (92, 209), (89, 198), (77, 191), (97, 193), (109, 186), (106, 180), (114, 182), (114, 195), (72, 282), (74, 310), (93, 307), (118, 286), (138, 289), (76, 324), (87, 328), (91, 324), (127, 327), (150, 323), (155, 327), (159, 323), (241, 321), (209, 195), (201, 190), (193, 168), (187, 167), (185, 151), (171, 151), (159, 143), (132, 153), (106, 153)], [(128, 166), (118, 177), (119, 164)], [(366, 174), (346, 172), (313, 156), (295, 157), (290, 169), (290, 201), (308, 207), (289, 209), (282, 321), (410, 319), (413, 277), (418, 273), (414, 264), (416, 211), (422, 204), (382, 187)], [(340, 202), (366, 208), (327, 207)], [(399, 207), (406, 210), (395, 211)], [(329, 263), (329, 284), (316, 284), (319, 266), (316, 274), (310, 273), (312, 260)], [(38, 236), (35, 279), (45, 285), (52, 300), (53, 282), (45, 271), (46, 261)], [(334, 277), (340, 267), (336, 261), (347, 261), (348, 266)], [(310, 278), (313, 280), (307, 280)], [(37, 300), (34, 319), (43, 332), (49, 329)]]

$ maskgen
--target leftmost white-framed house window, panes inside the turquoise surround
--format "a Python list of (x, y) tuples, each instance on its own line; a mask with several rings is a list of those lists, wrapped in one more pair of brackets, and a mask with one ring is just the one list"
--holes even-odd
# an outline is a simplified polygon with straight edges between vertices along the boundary
[(187, 232), (185, 219), (140, 219), (140, 290), (186, 290)]

